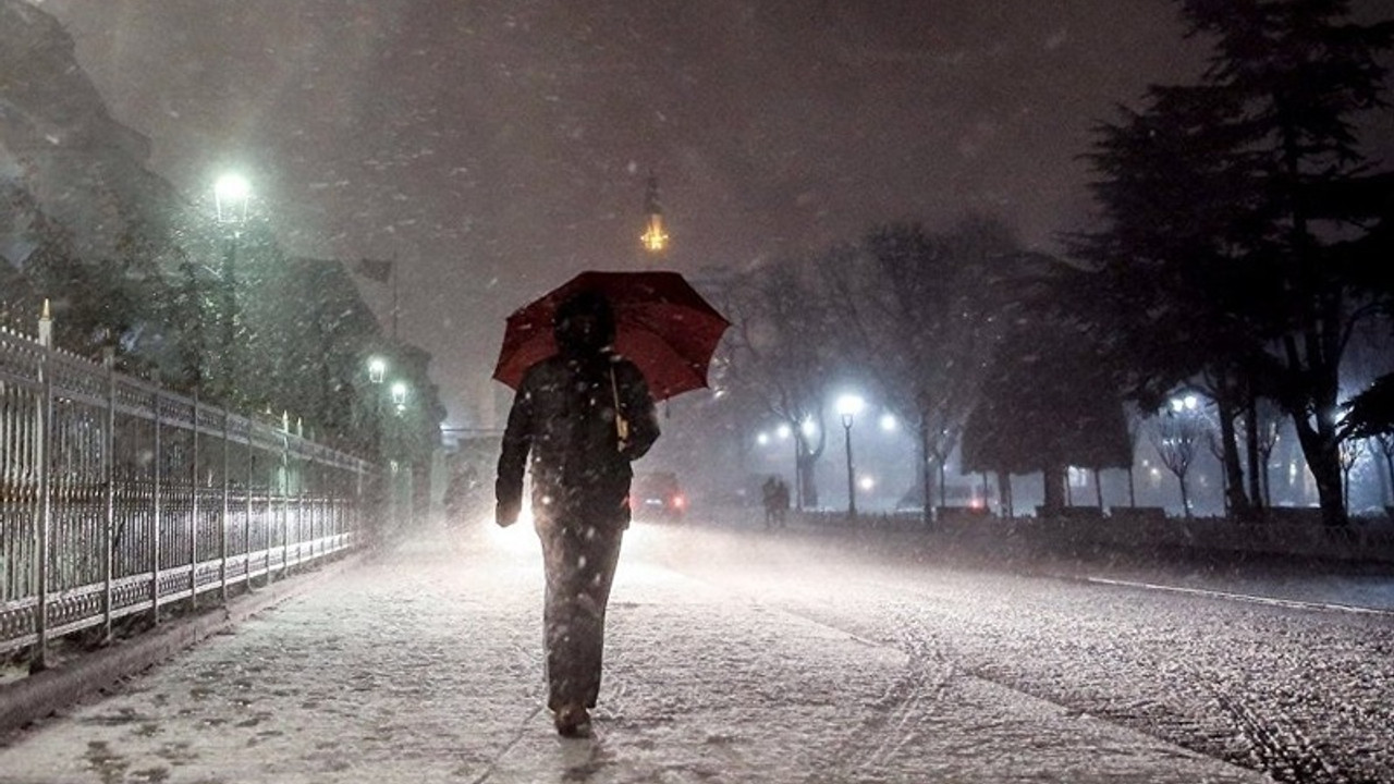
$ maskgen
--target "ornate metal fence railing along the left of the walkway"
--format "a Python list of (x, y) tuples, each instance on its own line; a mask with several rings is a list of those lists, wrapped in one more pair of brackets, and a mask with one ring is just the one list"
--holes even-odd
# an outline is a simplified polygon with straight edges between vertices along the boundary
[(371, 470), (0, 331), (0, 656), (355, 547)]

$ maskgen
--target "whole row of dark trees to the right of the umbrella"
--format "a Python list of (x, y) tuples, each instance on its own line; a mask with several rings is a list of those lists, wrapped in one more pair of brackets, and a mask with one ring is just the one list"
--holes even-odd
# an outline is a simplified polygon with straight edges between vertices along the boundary
[(1230, 513), (1252, 518), (1281, 424), (1328, 525), (1347, 520), (1359, 452), (1394, 485), (1394, 172), (1355, 131), (1372, 113), (1388, 131), (1394, 22), (1354, 24), (1338, 0), (1177, 6), (1210, 67), (1097, 127), (1098, 220), (1065, 255), (973, 216), (877, 226), (723, 282), (721, 384), (792, 428), (804, 504), (845, 378), (916, 423), (921, 492), (958, 448), (1004, 501), (1012, 474), (1041, 473), (1059, 508), (1068, 467), (1131, 470), (1146, 434), (1184, 495), (1210, 446)]

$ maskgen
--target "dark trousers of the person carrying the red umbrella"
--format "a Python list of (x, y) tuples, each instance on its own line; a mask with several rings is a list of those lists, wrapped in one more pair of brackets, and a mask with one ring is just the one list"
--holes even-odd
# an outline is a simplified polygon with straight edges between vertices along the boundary
[(549, 709), (595, 707), (605, 651), (605, 605), (619, 562), (618, 526), (546, 526), (538, 530), (546, 569), (542, 626)]

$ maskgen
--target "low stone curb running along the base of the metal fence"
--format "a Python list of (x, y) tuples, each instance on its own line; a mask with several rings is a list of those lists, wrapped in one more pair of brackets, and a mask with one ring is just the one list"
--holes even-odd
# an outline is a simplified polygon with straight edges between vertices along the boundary
[[(78, 656), (70, 663), (0, 686), (0, 735), (52, 716), (98, 691), (142, 672), (212, 635), (231, 629), (252, 615), (294, 598), (340, 572), (357, 566), (364, 552), (355, 552), (325, 566), (273, 582), (254, 593), (238, 596), (224, 608), (173, 621), (156, 631)], [(219, 611), (222, 610), (222, 611)]]

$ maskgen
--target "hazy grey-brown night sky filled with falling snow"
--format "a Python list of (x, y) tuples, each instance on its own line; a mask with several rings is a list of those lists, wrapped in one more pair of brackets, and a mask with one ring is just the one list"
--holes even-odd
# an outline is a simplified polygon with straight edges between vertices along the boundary
[(400, 261), (401, 336), (456, 425), (509, 311), (651, 264), (650, 170), (684, 272), (970, 211), (1052, 250), (1087, 220), (1090, 127), (1204, 56), (1167, 0), (40, 7), (181, 193), (236, 167), (291, 252)]

